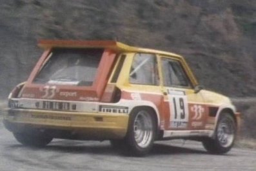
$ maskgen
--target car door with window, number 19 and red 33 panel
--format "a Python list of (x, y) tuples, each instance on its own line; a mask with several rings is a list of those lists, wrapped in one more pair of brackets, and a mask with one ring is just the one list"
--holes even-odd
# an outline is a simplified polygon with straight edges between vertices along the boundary
[(163, 109), (168, 130), (202, 130), (207, 108), (201, 93), (195, 93), (186, 67), (178, 58), (161, 57)]

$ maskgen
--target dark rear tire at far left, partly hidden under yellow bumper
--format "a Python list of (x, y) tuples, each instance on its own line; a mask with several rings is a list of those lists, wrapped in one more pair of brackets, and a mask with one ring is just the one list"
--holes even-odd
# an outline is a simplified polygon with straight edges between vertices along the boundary
[(14, 132), (14, 137), (19, 143), (30, 147), (44, 147), (50, 143), (53, 138), (46, 134), (28, 134), (24, 132)]

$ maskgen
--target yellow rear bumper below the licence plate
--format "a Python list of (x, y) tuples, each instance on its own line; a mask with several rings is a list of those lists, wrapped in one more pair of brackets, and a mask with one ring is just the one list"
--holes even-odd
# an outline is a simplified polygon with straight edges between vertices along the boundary
[(126, 135), (128, 114), (8, 109), (3, 123), (11, 132), (39, 130), (56, 138), (106, 140)]

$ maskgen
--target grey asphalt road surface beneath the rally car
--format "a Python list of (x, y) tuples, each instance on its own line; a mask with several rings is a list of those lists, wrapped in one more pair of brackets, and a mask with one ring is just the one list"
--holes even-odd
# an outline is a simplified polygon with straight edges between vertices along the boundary
[(201, 143), (162, 141), (144, 158), (125, 157), (109, 141), (54, 140), (44, 149), (24, 147), (0, 123), (0, 170), (256, 170), (256, 150), (207, 154)]

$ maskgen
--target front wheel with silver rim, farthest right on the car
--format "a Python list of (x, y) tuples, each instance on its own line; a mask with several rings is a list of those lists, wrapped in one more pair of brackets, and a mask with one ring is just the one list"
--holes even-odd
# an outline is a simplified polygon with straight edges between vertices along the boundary
[(205, 138), (202, 145), (211, 154), (224, 154), (233, 147), (236, 131), (234, 118), (229, 113), (222, 113), (213, 138)]

